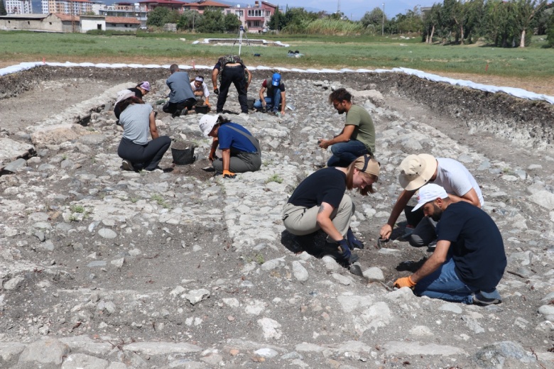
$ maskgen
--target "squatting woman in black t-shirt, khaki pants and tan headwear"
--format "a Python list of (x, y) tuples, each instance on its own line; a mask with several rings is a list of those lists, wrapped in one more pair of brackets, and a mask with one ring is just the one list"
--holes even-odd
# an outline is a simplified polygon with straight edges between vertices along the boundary
[[(313, 255), (330, 255), (340, 263), (354, 263), (351, 253), (363, 243), (354, 237), (350, 218), (354, 215), (352, 199), (344, 192), (356, 188), (365, 196), (375, 192), (379, 179), (379, 163), (369, 155), (354, 160), (348, 167), (326, 167), (309, 175), (298, 184), (283, 209), (283, 224), (296, 242)], [(322, 250), (315, 249), (315, 235), (327, 233)]]

